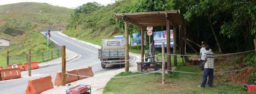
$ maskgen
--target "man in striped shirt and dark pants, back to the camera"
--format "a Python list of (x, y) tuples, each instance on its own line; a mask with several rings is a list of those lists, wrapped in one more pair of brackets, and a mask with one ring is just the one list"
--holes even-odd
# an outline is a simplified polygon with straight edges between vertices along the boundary
[(205, 52), (203, 58), (205, 58), (203, 64), (204, 64), (204, 76), (202, 78), (202, 84), (199, 85), (198, 87), (204, 88), (206, 81), (207, 81), (207, 76), (209, 76), (208, 80), (208, 85), (209, 87), (212, 87), (213, 84), (213, 68), (214, 68), (214, 59), (215, 55), (213, 52), (209, 51), (210, 47), (209, 45), (205, 46)]

